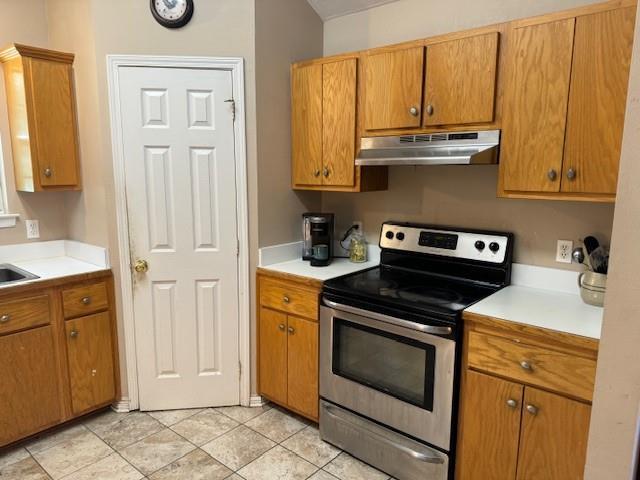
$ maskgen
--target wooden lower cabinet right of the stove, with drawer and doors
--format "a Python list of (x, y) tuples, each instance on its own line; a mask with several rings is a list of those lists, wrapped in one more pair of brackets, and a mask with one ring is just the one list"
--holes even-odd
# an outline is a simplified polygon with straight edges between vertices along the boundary
[[(566, 380), (572, 355), (595, 365), (598, 341), (475, 314), (464, 318), (456, 478), (582, 479), (595, 368), (576, 369), (571, 382), (551, 381), (548, 360)], [(509, 343), (514, 347), (504, 348)]]

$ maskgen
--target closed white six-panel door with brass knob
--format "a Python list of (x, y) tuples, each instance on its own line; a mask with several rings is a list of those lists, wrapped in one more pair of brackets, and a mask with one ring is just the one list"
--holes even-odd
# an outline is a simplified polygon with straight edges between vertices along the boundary
[(120, 69), (141, 410), (239, 402), (231, 73)]

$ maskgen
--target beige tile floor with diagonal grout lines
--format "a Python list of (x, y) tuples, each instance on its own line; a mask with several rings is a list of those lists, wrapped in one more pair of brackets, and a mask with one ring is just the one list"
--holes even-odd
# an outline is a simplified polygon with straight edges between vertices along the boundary
[(387, 480), (280, 408), (106, 411), (0, 450), (0, 480)]

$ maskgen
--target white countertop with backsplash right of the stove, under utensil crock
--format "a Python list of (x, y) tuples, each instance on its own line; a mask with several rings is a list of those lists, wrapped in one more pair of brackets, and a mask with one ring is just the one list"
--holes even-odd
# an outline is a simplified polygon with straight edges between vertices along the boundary
[[(514, 265), (512, 285), (466, 311), (478, 315), (600, 339), (602, 307), (580, 298), (577, 272)], [(544, 288), (549, 285), (553, 289)]]

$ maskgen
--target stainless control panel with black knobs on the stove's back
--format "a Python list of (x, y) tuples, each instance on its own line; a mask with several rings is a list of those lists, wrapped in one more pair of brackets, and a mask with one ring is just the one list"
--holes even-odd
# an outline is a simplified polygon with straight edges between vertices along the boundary
[(437, 230), (408, 225), (383, 224), (380, 247), (489, 263), (504, 262), (507, 235)]

